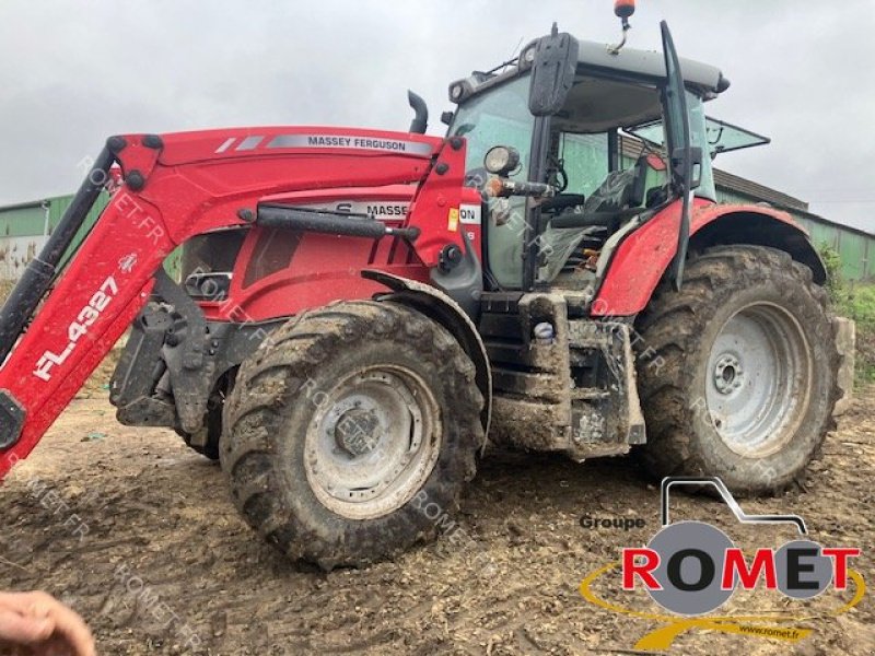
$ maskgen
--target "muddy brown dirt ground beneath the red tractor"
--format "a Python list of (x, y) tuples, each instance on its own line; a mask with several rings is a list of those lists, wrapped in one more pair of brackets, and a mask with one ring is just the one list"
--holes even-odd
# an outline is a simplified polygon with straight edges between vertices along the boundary
[[(0, 588), (43, 588), (92, 624), (102, 654), (605, 654), (631, 652), (656, 623), (597, 608), (581, 581), (658, 529), (658, 490), (631, 458), (575, 465), (495, 453), (482, 462), (456, 527), (397, 562), (325, 574), (294, 565), (238, 518), (219, 467), (164, 430), (120, 426), (89, 388), (0, 489)], [(875, 389), (860, 396), (807, 482), (748, 512), (793, 512), (826, 546), (875, 538)], [(702, 497), (673, 500), (674, 518), (715, 520), (745, 547), (792, 531), (742, 527)], [(582, 516), (643, 519), (628, 531), (586, 529)], [(440, 520), (440, 519), (439, 519)], [(757, 541), (757, 539), (759, 541)], [(655, 611), (609, 577), (594, 589)], [(803, 642), (692, 630), (676, 654), (875, 654), (875, 606), (804, 605)], [(782, 598), (736, 594), (728, 612), (773, 612)]]

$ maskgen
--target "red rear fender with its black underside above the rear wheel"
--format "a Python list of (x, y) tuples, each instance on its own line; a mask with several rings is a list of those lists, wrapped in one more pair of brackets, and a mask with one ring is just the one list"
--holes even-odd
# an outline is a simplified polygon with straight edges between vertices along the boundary
[[(620, 243), (593, 301), (593, 316), (633, 316), (648, 306), (677, 251), (679, 221), (680, 201), (675, 201)], [(826, 282), (826, 268), (808, 232), (781, 210), (697, 199), (690, 220), (690, 250), (720, 244), (784, 250), (812, 269), (817, 284)]]

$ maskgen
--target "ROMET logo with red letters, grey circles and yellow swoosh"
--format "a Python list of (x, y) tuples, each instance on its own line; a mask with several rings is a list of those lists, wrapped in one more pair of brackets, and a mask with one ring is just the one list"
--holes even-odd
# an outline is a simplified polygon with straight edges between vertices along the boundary
[[(800, 538), (779, 549), (761, 548), (750, 554), (738, 549), (719, 528), (703, 522), (678, 522), (668, 517), (669, 492), (677, 485), (712, 485), (743, 524), (790, 524)], [(591, 604), (663, 625), (646, 634), (637, 649), (667, 649), (675, 637), (690, 629), (722, 631), (743, 635), (795, 642), (810, 634), (804, 620), (781, 610), (760, 616), (714, 617), (736, 589), (777, 590), (791, 600), (813, 599), (835, 590), (848, 598), (841, 606), (822, 613), (837, 616), (856, 606), (865, 594), (863, 577), (850, 567), (860, 555), (851, 547), (821, 547), (807, 538), (807, 528), (797, 515), (747, 515), (718, 478), (666, 478), (662, 484), (663, 528), (644, 548), (622, 550), (622, 560), (592, 573), (581, 583), (581, 594)], [(662, 616), (605, 601), (593, 591), (595, 583), (619, 570), (626, 593), (643, 589), (653, 601), (675, 613)], [(810, 609), (806, 609), (808, 619)]]

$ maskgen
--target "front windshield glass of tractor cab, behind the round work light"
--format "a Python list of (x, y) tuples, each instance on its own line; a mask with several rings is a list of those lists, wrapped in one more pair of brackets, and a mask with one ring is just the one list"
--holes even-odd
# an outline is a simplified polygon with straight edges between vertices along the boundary
[[(532, 128), (535, 118), (528, 112), (528, 75), (516, 78), (488, 93), (476, 95), (459, 106), (450, 134), (468, 142), (466, 169), (486, 181), (483, 157), (495, 145), (520, 151), (520, 167), (509, 177), (528, 179), (532, 154)], [(511, 198), (506, 207), (490, 207), (486, 229), (488, 269), (501, 286), (518, 289), (523, 279), (524, 198)], [(497, 219), (500, 216), (500, 219)]]

